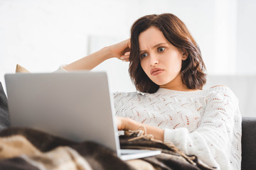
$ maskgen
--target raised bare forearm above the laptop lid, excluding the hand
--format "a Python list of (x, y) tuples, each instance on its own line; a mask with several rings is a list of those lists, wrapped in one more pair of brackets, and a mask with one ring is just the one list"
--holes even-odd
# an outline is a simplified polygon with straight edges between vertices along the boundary
[(81, 58), (71, 64), (66, 65), (63, 69), (67, 71), (80, 70), (80, 69), (93, 69), (98, 64), (110, 59), (112, 54), (108, 47), (104, 47), (101, 50), (92, 53), (86, 57)]

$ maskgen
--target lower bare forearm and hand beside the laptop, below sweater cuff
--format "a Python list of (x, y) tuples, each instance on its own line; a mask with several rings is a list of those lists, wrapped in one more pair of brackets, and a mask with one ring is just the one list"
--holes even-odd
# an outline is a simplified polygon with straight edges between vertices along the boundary
[(146, 134), (153, 135), (155, 140), (161, 140), (164, 142), (164, 130), (151, 125), (139, 123), (129, 118), (127, 119), (127, 130), (137, 130), (140, 126), (144, 126), (146, 128)]

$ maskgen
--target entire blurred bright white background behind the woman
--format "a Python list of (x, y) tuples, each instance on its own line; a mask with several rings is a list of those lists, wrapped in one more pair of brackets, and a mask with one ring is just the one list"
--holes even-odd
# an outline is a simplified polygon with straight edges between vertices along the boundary
[[(208, 74), (255, 74), (255, 8), (254, 0), (0, 0), (0, 81), (16, 64), (53, 72), (129, 38), (132, 23), (152, 13), (186, 24)], [(112, 91), (134, 91), (127, 69), (112, 59), (94, 70), (108, 72)]]

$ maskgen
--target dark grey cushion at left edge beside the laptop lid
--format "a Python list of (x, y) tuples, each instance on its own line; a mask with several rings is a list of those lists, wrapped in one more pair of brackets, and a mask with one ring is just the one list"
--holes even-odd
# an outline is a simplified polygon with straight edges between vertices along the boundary
[(8, 104), (6, 94), (4, 93), (3, 86), (0, 82), (0, 130), (9, 128), (10, 117), (8, 111)]

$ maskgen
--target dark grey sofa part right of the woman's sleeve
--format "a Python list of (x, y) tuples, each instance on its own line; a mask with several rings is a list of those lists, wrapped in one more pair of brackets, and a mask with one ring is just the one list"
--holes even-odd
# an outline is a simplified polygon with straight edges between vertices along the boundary
[(256, 168), (256, 118), (242, 118), (242, 170)]

